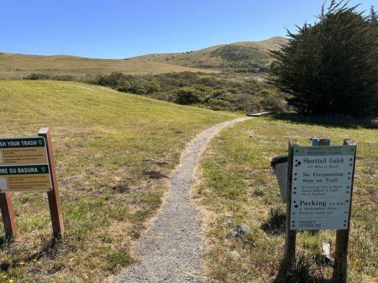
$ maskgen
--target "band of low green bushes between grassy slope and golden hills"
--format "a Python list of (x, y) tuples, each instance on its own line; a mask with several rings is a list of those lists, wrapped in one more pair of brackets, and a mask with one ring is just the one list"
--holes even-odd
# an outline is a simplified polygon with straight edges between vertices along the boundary
[[(30, 74), (24, 79), (70, 81), (69, 76)], [(182, 105), (199, 105), (212, 110), (258, 111), (287, 110), (282, 93), (267, 88), (250, 76), (203, 74), (193, 72), (158, 75), (126, 75), (119, 72), (98, 74), (83, 80), (117, 91), (150, 96)]]

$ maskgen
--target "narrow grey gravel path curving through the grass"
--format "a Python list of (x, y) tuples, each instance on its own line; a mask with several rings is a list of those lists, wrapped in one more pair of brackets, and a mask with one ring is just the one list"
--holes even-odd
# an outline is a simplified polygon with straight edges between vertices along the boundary
[(139, 264), (132, 265), (115, 282), (202, 282), (201, 220), (189, 197), (194, 171), (206, 142), (219, 130), (250, 119), (238, 118), (201, 132), (193, 139), (170, 175), (170, 190), (150, 230), (135, 249)]

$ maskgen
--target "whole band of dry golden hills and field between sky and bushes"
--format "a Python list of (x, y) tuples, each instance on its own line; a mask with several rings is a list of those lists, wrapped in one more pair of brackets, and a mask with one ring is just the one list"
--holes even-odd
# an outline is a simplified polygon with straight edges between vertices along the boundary
[(179, 71), (216, 73), (221, 69), (260, 69), (272, 61), (269, 50), (287, 42), (272, 37), (258, 42), (235, 42), (202, 50), (147, 54), (129, 59), (90, 59), (68, 55), (40, 56), (0, 53), (0, 79), (20, 79), (31, 73), (82, 78), (93, 74), (162, 74)]

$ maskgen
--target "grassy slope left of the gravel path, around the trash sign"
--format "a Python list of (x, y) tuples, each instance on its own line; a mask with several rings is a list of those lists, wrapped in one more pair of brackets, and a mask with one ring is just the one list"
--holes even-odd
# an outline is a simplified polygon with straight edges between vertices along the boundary
[(67, 229), (51, 241), (47, 197), (13, 194), (20, 236), (0, 225), (0, 282), (102, 282), (162, 202), (184, 144), (235, 115), (84, 83), (0, 81), (0, 136), (51, 127)]

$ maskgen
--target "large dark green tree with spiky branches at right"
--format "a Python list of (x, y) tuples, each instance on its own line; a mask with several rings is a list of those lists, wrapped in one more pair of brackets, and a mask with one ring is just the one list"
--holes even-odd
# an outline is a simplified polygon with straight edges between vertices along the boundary
[[(369, 16), (331, 1), (318, 21), (288, 30), (289, 43), (273, 51), (272, 84), (299, 112), (368, 115), (377, 112), (377, 13)], [(325, 11), (326, 10), (326, 11)]]

